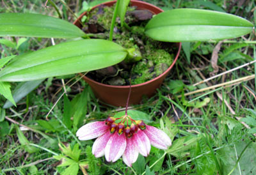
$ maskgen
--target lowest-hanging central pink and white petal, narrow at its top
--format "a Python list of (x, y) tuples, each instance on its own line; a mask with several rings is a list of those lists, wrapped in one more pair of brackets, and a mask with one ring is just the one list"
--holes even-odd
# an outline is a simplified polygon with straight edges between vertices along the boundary
[(133, 144), (132, 138), (127, 138), (126, 142), (127, 144), (123, 155), (123, 161), (127, 166), (132, 167), (132, 164), (136, 162), (138, 158), (139, 152)]

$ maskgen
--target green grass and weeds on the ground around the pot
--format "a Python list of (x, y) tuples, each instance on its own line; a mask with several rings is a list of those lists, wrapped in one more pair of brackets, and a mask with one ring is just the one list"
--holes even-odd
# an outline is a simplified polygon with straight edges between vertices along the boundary
[[(67, 6), (62, 1), (54, 2), (63, 19), (70, 22), (74, 21), (74, 15), (67, 6), (76, 14), (81, 10), (81, 1), (65, 1)], [(252, 22), (256, 20), (255, 8), (252, 11), (255, 6), (253, 1), (248, 4), (228, 1), (225, 6), (219, 0), (211, 1), (208, 5), (202, 1), (148, 2), (164, 10), (181, 7), (222, 8)], [(44, 8), (44, 3), (1, 1), (3, 8), (0, 12), (31, 12), (58, 17), (52, 5), (48, 4), (49, 8)], [(241, 43), (244, 38), (237, 38), (221, 45), (218, 73), (256, 59), (253, 45), (255, 33), (244, 37), (252, 43), (244, 44)], [(14, 43), (19, 40), (10, 37), (5, 39)], [(58, 42), (61, 40), (56, 40)], [(40, 38), (26, 38), (17, 49), (0, 44), (1, 57), (23, 54), (51, 44), (51, 40)], [(190, 60), (181, 52), (172, 73), (164, 80), (156, 95), (145, 99), (141, 105), (134, 105), (134, 109), (147, 113), (151, 124), (164, 130), (173, 144), (166, 151), (152, 148), (150, 155), (146, 158), (139, 156), (132, 168), (127, 167), (121, 159), (109, 163), (104, 157), (95, 158), (91, 153), (93, 141), (79, 141), (76, 138), (77, 128), (90, 121), (113, 116), (117, 109), (100, 103), (79, 76), (47, 79), (22, 98), (17, 107), (3, 109), (5, 99), (0, 96), (0, 174), (68, 174), (68, 166), (58, 166), (61, 158), (76, 160), (76, 156), (76, 164), (70, 166), (73, 174), (76, 174), (75, 170), (78, 174), (83, 174), (84, 170), (89, 174), (256, 174), (253, 135), (256, 133), (253, 130), (256, 122), (255, 79), (186, 95), (191, 91), (256, 74), (256, 64), (252, 64), (193, 87), (196, 82), (211, 77), (211, 53), (216, 44), (190, 43)], [(70, 80), (65, 89), (62, 79), (65, 83)], [(12, 89), (18, 84), (12, 83)], [(64, 98), (63, 93), (68, 98)], [(241, 118), (246, 125), (239, 121)], [(74, 152), (70, 153), (72, 150)], [(84, 165), (88, 162), (89, 168), (86, 169)]]

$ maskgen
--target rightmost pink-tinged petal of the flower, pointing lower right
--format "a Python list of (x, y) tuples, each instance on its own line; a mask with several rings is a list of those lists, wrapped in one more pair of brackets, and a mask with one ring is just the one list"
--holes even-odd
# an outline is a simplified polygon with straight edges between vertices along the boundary
[(154, 126), (146, 125), (146, 129), (143, 130), (143, 132), (146, 133), (152, 146), (156, 148), (167, 149), (168, 146), (172, 145), (170, 137), (168, 137), (165, 132), (155, 128)]

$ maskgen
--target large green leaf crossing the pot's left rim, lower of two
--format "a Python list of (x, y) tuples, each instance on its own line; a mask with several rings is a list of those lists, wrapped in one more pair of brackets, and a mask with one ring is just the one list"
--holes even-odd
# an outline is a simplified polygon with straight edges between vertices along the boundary
[(115, 65), (126, 50), (108, 40), (77, 40), (16, 56), (0, 72), (0, 81), (29, 81)]

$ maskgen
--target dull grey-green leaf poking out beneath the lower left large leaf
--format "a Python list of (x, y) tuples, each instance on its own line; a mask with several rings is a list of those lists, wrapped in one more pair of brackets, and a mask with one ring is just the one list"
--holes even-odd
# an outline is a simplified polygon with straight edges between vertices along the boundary
[[(19, 85), (13, 90), (13, 99), (14, 102), (19, 102), (24, 96), (27, 96), (31, 91), (33, 91), (44, 79), (41, 80), (33, 80), (28, 82), (20, 82)], [(4, 103), (3, 108), (12, 107), (13, 103), (7, 101)]]

